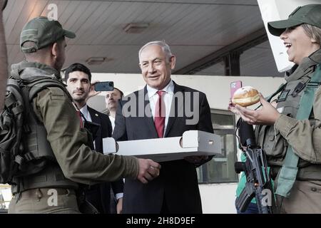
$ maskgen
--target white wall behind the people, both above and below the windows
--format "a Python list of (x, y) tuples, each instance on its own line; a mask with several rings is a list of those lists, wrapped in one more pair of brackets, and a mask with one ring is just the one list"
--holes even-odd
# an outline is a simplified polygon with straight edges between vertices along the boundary
[[(208, 98), (210, 108), (226, 110), (230, 99), (230, 83), (232, 81), (243, 81), (243, 86), (253, 86), (264, 96), (273, 93), (283, 78), (258, 78), (258, 77), (231, 77), (231, 76), (172, 76), (173, 80), (183, 86), (189, 86), (203, 91)], [(107, 74), (94, 73), (93, 80), (113, 81), (117, 88), (126, 94), (145, 86), (143, 78), (139, 74)], [(88, 101), (89, 105), (97, 110), (103, 110), (103, 94)], [(203, 212), (214, 213), (235, 213), (235, 190), (237, 183), (200, 185)], [(193, 196), (191, 196), (193, 197)]]

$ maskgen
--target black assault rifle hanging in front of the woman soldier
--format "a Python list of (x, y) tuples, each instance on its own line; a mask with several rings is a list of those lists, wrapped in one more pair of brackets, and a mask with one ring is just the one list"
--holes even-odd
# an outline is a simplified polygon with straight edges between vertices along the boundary
[(271, 214), (275, 198), (272, 180), (267, 170), (265, 152), (255, 143), (253, 126), (243, 120), (238, 121), (240, 145), (246, 157), (245, 162), (235, 162), (235, 172), (245, 172), (245, 188), (235, 201), (240, 212), (245, 212), (253, 197), (260, 214)]

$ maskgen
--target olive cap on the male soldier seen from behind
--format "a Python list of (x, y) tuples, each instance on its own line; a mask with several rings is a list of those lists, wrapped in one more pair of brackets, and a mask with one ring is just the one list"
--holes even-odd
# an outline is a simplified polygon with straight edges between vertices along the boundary
[[(62, 37), (75, 38), (76, 34), (64, 30), (58, 21), (49, 20), (46, 16), (39, 16), (29, 21), (20, 34), (20, 47), (24, 53), (38, 51), (41, 48), (55, 43)], [(33, 41), (35, 44), (31, 47), (23, 47), (26, 41)]]

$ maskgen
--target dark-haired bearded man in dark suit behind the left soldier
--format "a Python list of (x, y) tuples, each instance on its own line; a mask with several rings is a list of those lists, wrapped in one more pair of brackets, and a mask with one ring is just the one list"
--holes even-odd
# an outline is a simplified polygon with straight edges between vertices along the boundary
[[(73, 98), (73, 102), (77, 105), (81, 111), (83, 118), (92, 123), (100, 125), (96, 132), (96, 138), (94, 138), (94, 147), (98, 152), (103, 152), (103, 138), (111, 137), (112, 128), (111, 121), (108, 115), (99, 113), (97, 110), (90, 108), (86, 104), (86, 100), (91, 91), (91, 72), (86, 66), (81, 63), (73, 63), (66, 68), (65, 78), (67, 82), (68, 92)], [(111, 187), (118, 199), (117, 212), (121, 212), (122, 200), (123, 200), (123, 180), (116, 182), (105, 182), (98, 185), (91, 185), (86, 190), (86, 199), (91, 202), (98, 212), (109, 214), (111, 212), (110, 205), (110, 192)]]

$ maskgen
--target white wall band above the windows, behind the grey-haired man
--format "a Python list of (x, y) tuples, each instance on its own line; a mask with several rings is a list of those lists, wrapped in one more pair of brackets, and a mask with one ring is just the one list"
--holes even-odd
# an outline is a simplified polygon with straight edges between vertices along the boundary
[[(232, 77), (232, 76), (172, 76), (173, 81), (182, 86), (188, 86), (204, 92), (207, 95), (210, 108), (226, 110), (230, 99), (230, 83), (232, 81), (243, 81), (243, 86), (253, 86), (264, 96), (274, 92), (283, 78), (272, 77)], [(114, 86), (123, 90), (127, 95), (145, 86), (140, 74), (117, 74), (117, 73), (93, 73), (93, 81), (113, 81)], [(104, 110), (104, 92), (97, 97), (88, 100), (88, 104), (97, 110)]]

